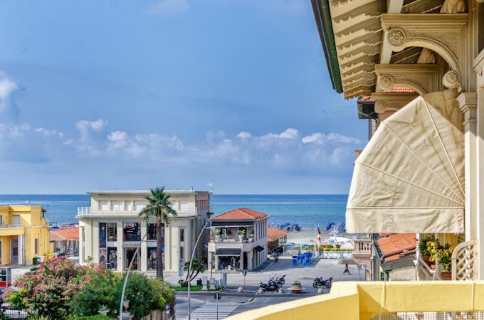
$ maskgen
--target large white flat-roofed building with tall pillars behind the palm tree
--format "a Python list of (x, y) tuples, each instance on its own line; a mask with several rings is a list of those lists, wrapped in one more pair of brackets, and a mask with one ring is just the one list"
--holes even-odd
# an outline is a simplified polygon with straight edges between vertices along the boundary
[[(209, 219), (210, 193), (193, 190), (165, 190), (177, 216), (164, 225), (164, 270), (178, 270), (180, 262), (190, 260), (196, 238)], [(91, 206), (78, 208), (79, 260), (105, 263), (122, 271), (135, 255), (133, 269), (156, 270), (157, 233), (155, 219), (146, 222), (139, 216), (147, 206), (149, 191), (91, 191)], [(144, 235), (146, 238), (140, 242)], [(206, 257), (208, 235), (203, 235), (196, 257)], [(205, 252), (204, 252), (205, 251)], [(183, 260), (183, 261), (180, 261)]]

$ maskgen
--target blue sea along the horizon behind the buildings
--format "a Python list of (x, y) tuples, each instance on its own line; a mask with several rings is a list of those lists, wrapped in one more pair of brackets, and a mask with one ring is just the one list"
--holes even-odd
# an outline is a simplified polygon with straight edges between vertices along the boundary
[[(329, 223), (344, 222), (347, 195), (315, 194), (271, 194), (271, 195), (227, 195), (214, 194), (212, 208), (215, 214), (233, 208), (251, 208), (270, 215), (270, 225), (298, 223), (302, 228), (325, 228)], [(46, 218), (51, 223), (77, 223), (78, 207), (90, 206), (87, 194), (19, 194), (0, 195), (0, 205), (40, 204), (45, 208)]]

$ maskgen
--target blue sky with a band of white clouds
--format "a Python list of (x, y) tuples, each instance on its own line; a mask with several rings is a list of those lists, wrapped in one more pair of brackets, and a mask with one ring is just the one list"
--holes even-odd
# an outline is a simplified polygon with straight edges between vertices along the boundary
[(0, 193), (347, 193), (309, 0), (0, 0)]

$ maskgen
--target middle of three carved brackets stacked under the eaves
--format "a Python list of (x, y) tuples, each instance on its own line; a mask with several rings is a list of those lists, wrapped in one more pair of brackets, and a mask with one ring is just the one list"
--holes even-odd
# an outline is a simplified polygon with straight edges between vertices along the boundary
[(411, 87), (419, 95), (439, 89), (436, 65), (375, 65), (377, 92), (391, 87)]

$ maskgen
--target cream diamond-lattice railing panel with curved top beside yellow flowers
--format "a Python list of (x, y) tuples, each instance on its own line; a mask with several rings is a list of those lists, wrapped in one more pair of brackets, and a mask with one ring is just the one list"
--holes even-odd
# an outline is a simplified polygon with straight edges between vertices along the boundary
[(460, 243), (452, 252), (452, 279), (473, 280), (478, 269), (477, 241)]

